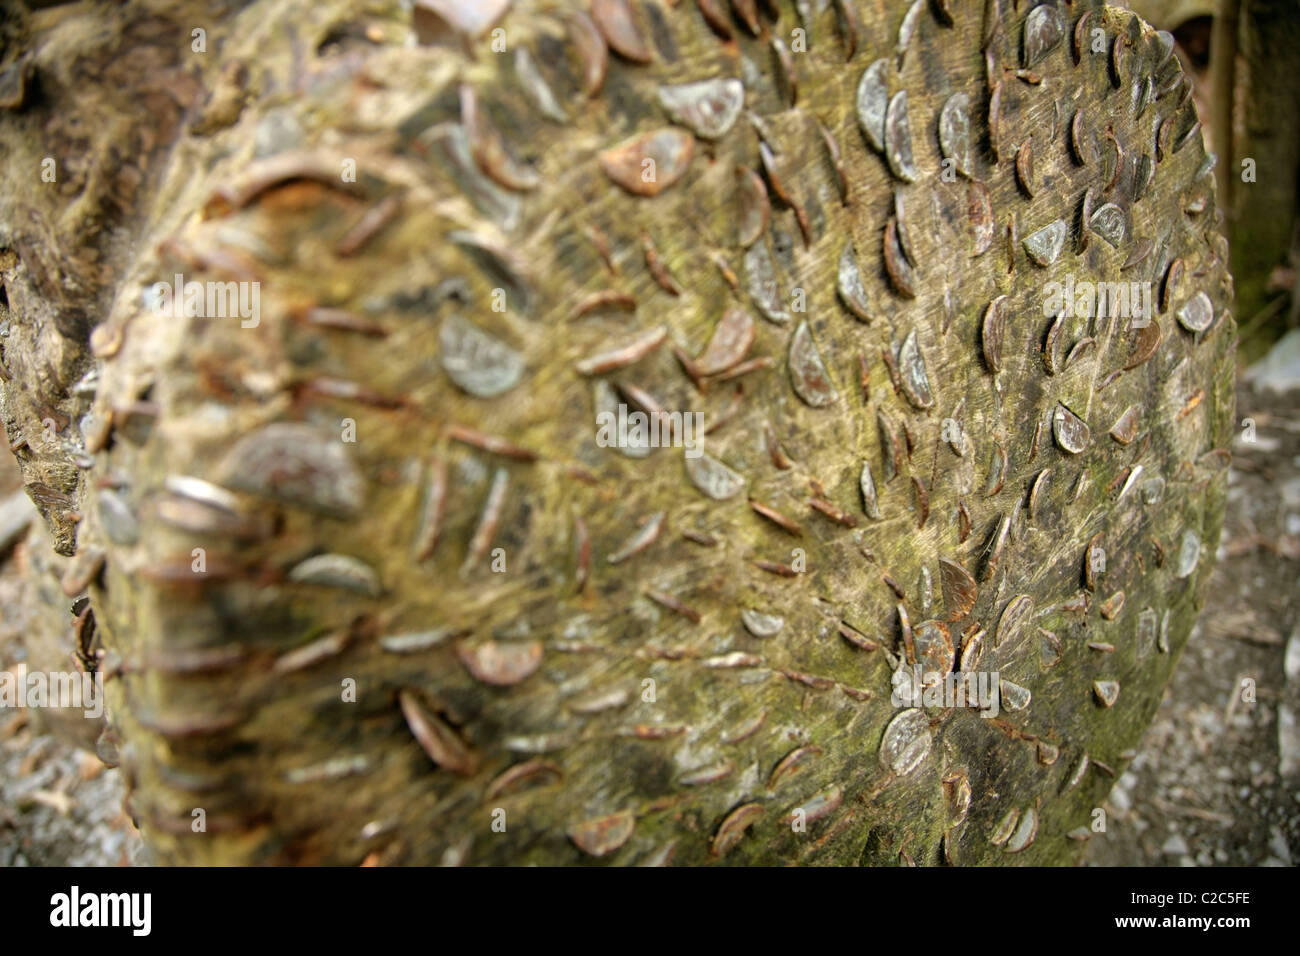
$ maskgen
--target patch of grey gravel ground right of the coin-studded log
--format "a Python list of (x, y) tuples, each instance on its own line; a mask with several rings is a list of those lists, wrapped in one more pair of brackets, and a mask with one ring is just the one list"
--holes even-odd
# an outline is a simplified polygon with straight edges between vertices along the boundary
[[(1210, 604), (1138, 757), (1106, 803), (1092, 865), (1284, 866), (1300, 858), (1300, 392), (1238, 388)], [(1254, 682), (1254, 702), (1243, 684)]]

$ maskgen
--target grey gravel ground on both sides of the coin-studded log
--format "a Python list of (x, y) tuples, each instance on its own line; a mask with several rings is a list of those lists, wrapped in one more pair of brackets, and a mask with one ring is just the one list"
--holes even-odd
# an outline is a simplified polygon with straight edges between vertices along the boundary
[[(1300, 857), (1300, 392), (1238, 392), (1227, 519), (1204, 610), (1138, 757), (1105, 805), (1088, 865), (1291, 865)], [(0, 455), (0, 499), (18, 486)], [(0, 670), (26, 657), (25, 542), (0, 554)], [(1253, 679), (1254, 702), (1243, 700)], [(143, 858), (122, 779), (0, 710), (0, 866)]]

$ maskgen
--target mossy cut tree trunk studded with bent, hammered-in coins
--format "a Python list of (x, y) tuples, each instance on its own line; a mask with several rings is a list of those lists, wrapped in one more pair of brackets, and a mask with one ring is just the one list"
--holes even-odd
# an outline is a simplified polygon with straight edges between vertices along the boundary
[(5, 428), (157, 858), (1075, 860), (1222, 523), (1176, 57), (1083, 0), (416, 7), (5, 23)]

